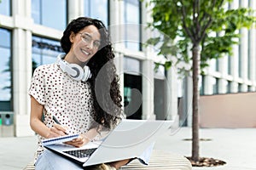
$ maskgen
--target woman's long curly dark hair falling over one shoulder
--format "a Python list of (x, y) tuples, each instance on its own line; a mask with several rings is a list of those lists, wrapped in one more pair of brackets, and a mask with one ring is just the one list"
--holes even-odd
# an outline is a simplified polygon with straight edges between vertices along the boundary
[(108, 30), (101, 20), (89, 17), (79, 17), (72, 20), (61, 37), (61, 48), (67, 54), (72, 43), (69, 40), (70, 34), (78, 33), (86, 26), (96, 26), (101, 34), (101, 45), (96, 54), (90, 59), (87, 65), (90, 67), (92, 77), (89, 79), (91, 93), (94, 101), (95, 120), (92, 127), (103, 125), (107, 129), (115, 126), (122, 113), (121, 95), (119, 91), (119, 77), (113, 63), (113, 47), (110, 42)]

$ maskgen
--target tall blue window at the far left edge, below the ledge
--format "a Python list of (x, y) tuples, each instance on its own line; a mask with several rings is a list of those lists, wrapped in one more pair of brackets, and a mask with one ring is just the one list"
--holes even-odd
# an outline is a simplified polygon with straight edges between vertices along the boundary
[(0, 28), (0, 111), (13, 111), (11, 33)]

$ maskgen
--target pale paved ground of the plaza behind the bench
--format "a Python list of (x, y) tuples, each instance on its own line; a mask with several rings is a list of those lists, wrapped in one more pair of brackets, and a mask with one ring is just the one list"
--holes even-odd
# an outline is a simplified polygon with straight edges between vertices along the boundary
[[(191, 128), (182, 127), (163, 134), (155, 149), (191, 156)], [(219, 167), (193, 167), (193, 170), (256, 170), (256, 128), (202, 128), (200, 155), (226, 161)], [(36, 137), (0, 138), (0, 169), (26, 167), (36, 150)]]

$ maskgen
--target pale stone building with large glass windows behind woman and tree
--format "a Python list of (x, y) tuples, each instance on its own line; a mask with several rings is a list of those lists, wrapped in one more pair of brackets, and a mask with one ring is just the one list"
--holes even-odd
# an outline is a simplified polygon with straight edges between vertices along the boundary
[[(59, 42), (62, 31), (79, 16), (102, 20), (113, 37), (119, 35), (113, 48), (127, 118), (174, 119), (177, 116), (177, 99), (183, 95), (179, 93), (183, 86), (173, 71), (166, 71), (163, 66), (154, 71), (152, 49), (142, 46), (143, 39), (147, 39), (142, 25), (150, 18), (147, 1), (24, 1), (0, 3), (0, 115), (16, 116), (14, 135), (32, 133), (27, 94), (32, 72), (38, 65), (54, 63), (57, 54), (63, 53)], [(228, 8), (240, 5), (241, 1), (236, 0)], [(247, 5), (256, 6), (252, 1)], [(118, 29), (113, 30), (113, 26)], [(207, 75), (201, 77), (201, 95), (255, 91), (255, 30), (241, 32), (246, 36), (241, 37), (243, 43), (234, 46), (234, 56), (209, 61)], [(133, 89), (140, 93), (141, 100), (134, 99)], [(136, 105), (137, 102), (141, 105)]]

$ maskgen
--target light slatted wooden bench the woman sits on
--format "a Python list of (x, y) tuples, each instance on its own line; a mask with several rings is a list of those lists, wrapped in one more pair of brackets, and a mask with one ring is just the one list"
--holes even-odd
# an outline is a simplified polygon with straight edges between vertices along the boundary
[[(30, 162), (23, 170), (34, 170), (33, 162)], [(153, 169), (165, 169), (165, 170), (191, 170), (192, 166), (190, 161), (184, 156), (178, 156), (176, 154), (154, 150), (149, 161), (149, 165), (145, 166), (141, 162), (134, 160), (120, 170), (153, 170)]]

